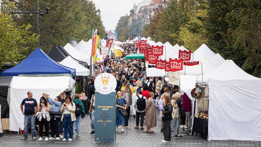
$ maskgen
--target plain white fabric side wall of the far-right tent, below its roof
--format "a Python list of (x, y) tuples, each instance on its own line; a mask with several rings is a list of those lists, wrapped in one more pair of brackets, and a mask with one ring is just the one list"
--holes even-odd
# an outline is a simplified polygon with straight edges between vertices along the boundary
[(261, 141), (261, 86), (209, 85), (209, 140)]

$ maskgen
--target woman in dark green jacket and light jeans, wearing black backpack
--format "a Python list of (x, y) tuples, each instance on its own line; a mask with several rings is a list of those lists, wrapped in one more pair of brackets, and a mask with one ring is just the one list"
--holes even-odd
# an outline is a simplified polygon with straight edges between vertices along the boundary
[(73, 102), (75, 103), (75, 116), (76, 116), (76, 137), (81, 137), (81, 135), (79, 135), (80, 133), (80, 121), (81, 121), (81, 117), (84, 118), (85, 117), (85, 110), (84, 110), (84, 106), (83, 106), (83, 102), (79, 99), (79, 95), (76, 93), (74, 94), (73, 97)]

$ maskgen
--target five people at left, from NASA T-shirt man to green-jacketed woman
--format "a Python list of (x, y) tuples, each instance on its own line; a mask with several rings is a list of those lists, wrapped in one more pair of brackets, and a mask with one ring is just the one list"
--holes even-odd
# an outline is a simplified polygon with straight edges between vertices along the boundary
[[(45, 130), (45, 141), (60, 140), (72, 141), (73, 124), (76, 125), (76, 137), (80, 137), (80, 121), (85, 117), (85, 110), (79, 95), (71, 96), (62, 92), (55, 99), (50, 98), (46, 93), (42, 94), (39, 105), (33, 98), (33, 93), (29, 91), (28, 97), (21, 103), (21, 111), (24, 115), (24, 136), (21, 140), (27, 140), (29, 123), (33, 140), (36, 140), (35, 124), (38, 124), (39, 139), (42, 141), (43, 129)], [(49, 137), (49, 124), (51, 128), (51, 137)]]

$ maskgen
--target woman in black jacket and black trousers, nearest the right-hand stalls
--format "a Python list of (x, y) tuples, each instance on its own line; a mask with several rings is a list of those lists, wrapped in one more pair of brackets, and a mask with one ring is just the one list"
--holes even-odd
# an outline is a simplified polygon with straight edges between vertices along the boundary
[(170, 122), (172, 120), (172, 109), (173, 106), (171, 105), (171, 102), (169, 100), (169, 95), (164, 96), (165, 106), (164, 110), (162, 111), (163, 117), (162, 120), (164, 122), (163, 124), (163, 135), (164, 140), (161, 140), (161, 142), (170, 142), (171, 141), (171, 127)]

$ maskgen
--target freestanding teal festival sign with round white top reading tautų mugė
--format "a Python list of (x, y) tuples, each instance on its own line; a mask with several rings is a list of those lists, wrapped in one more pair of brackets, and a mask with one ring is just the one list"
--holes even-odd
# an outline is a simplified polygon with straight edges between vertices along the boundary
[(112, 74), (99, 74), (95, 81), (95, 142), (116, 141), (117, 81)]

